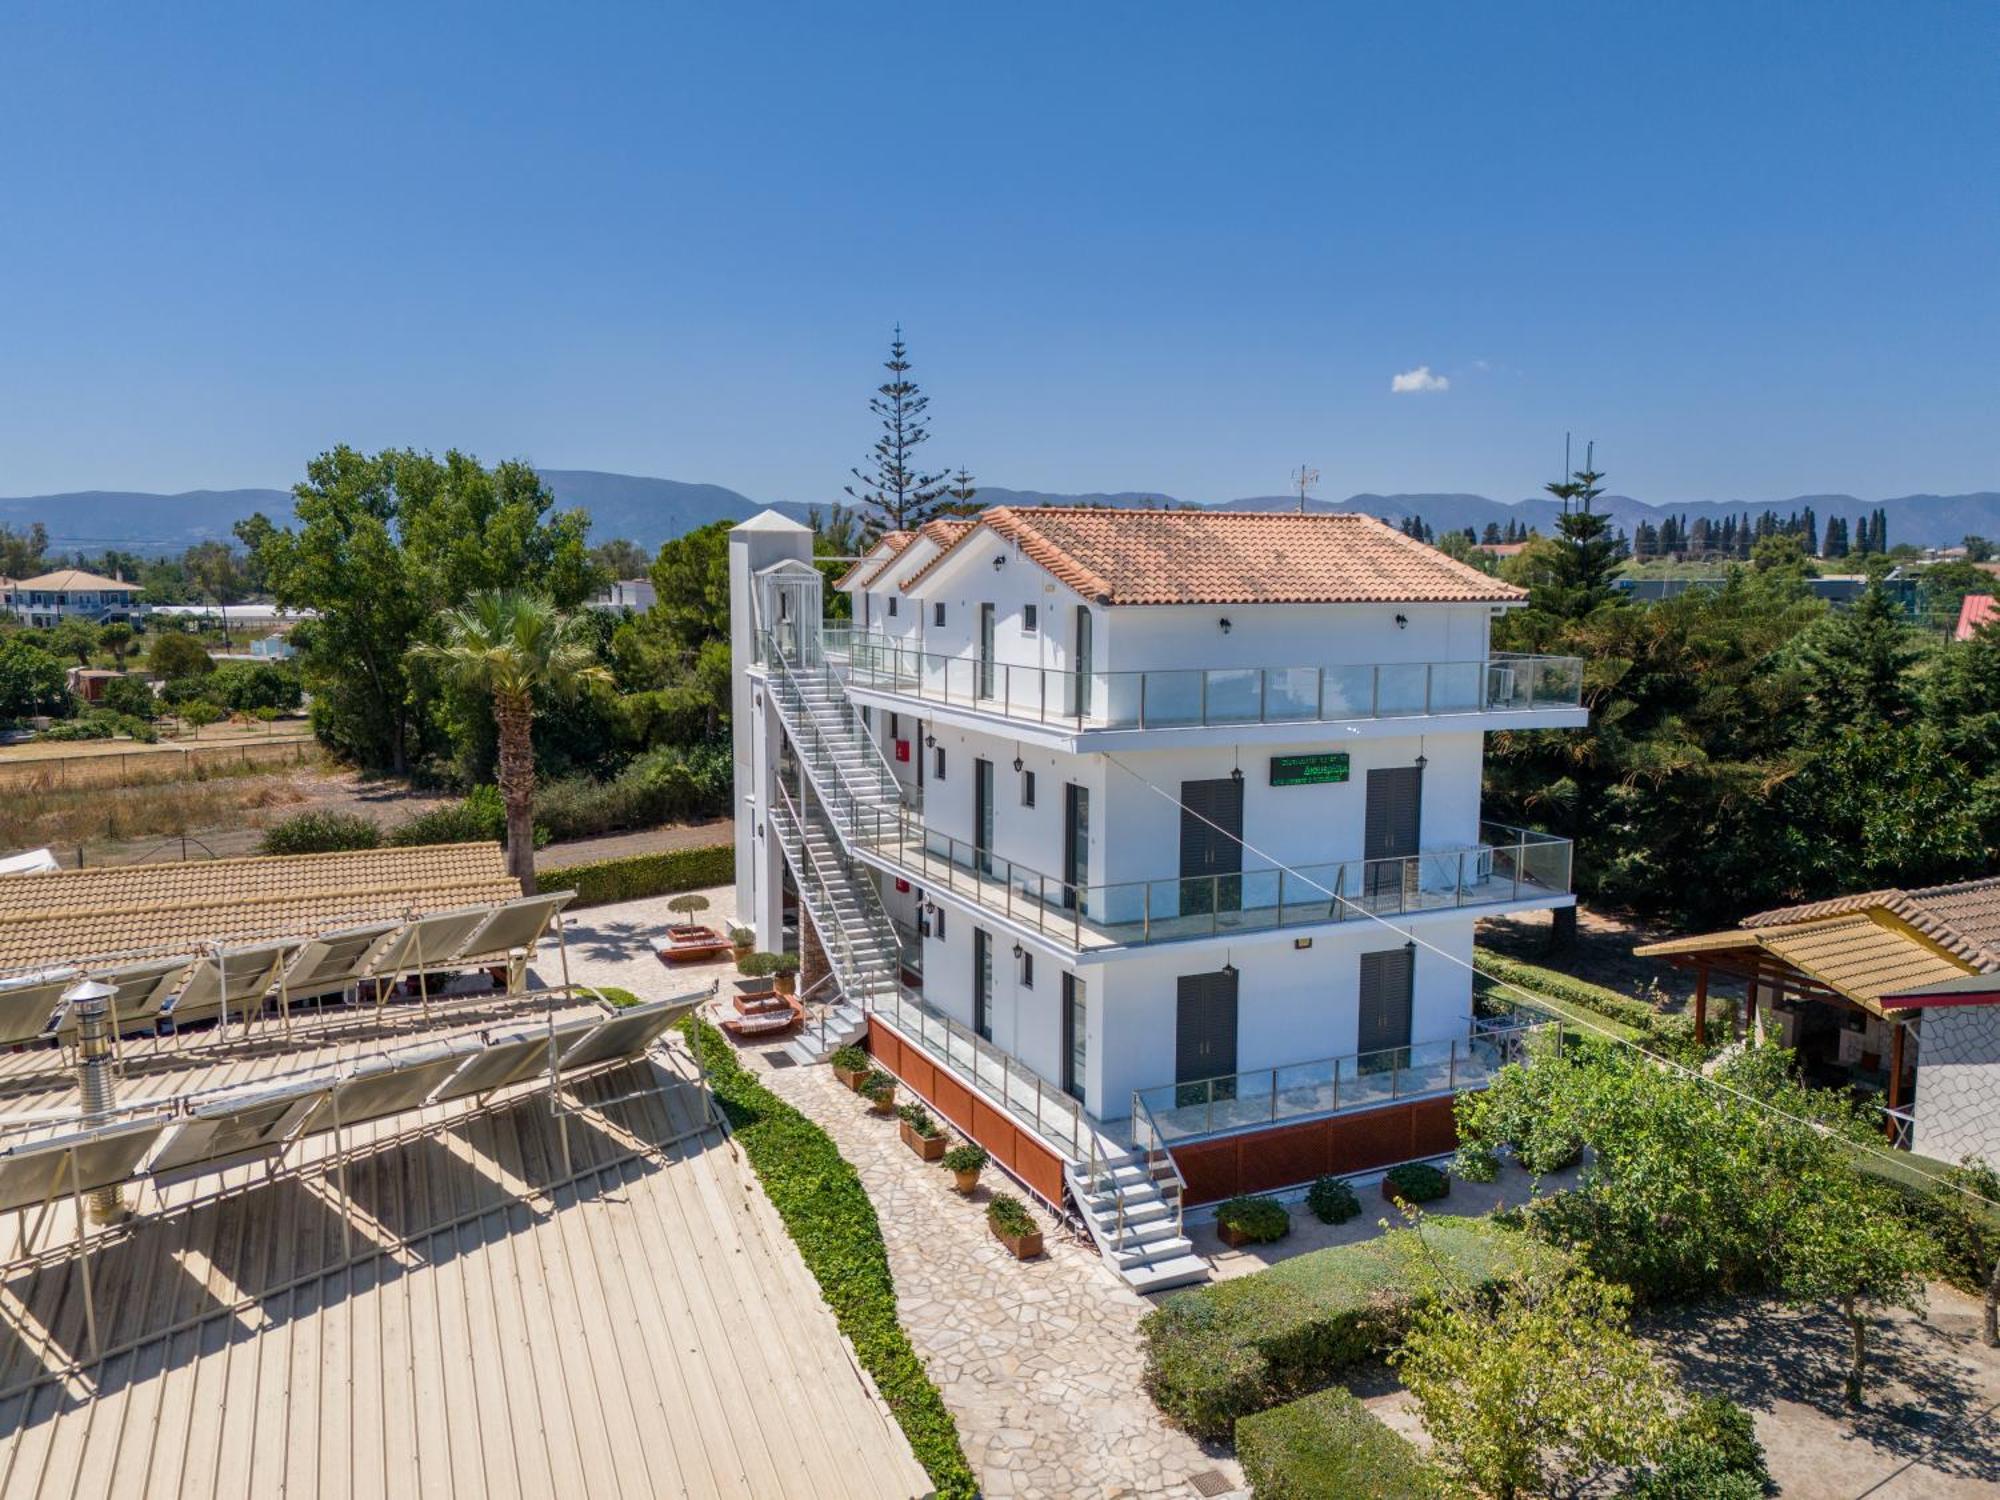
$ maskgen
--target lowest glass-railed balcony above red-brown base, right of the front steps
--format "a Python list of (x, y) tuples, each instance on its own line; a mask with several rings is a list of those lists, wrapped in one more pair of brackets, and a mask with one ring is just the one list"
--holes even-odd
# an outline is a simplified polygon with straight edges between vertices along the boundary
[(1270, 1130), (1484, 1088), (1538, 1040), (1560, 1044), (1560, 1024), (1550, 1020), (1474, 1020), (1466, 1036), (1446, 1042), (1140, 1088), (1132, 1094), (1132, 1138), (1138, 1146), (1164, 1150), (1232, 1130)]

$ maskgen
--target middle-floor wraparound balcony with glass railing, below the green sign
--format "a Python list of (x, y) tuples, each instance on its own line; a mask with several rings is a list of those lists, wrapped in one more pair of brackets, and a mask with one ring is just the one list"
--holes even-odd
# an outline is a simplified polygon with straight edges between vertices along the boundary
[(1570, 840), (1480, 824), (1480, 842), (1392, 860), (1334, 860), (1238, 874), (1080, 886), (858, 808), (870, 854), (926, 890), (944, 890), (1076, 950), (1142, 946), (1420, 912), (1556, 904), (1570, 894)]

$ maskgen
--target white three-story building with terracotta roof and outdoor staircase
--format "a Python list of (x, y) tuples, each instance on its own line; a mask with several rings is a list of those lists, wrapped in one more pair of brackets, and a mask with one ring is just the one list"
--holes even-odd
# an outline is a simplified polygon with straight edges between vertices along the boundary
[[(1516, 1040), (1480, 916), (1570, 904), (1480, 816), (1484, 734), (1584, 724), (1496, 656), (1522, 592), (1366, 516), (998, 508), (890, 534), (822, 622), (810, 534), (732, 532), (738, 912), (1142, 1286), (1180, 1200), (1450, 1150)], [(808, 962), (808, 986), (818, 978)]]

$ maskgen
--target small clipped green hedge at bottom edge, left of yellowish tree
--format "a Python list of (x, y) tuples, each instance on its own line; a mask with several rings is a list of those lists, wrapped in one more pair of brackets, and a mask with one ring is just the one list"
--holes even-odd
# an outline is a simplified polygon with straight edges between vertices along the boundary
[(1428, 1500), (1422, 1454), (1340, 1386), (1236, 1424), (1236, 1456), (1256, 1500)]

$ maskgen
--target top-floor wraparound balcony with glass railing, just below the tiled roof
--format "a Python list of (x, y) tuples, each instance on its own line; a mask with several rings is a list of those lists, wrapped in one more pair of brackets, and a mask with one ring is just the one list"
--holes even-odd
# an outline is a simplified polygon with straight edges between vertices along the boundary
[(840, 626), (826, 628), (824, 648), (848, 686), (1070, 730), (1576, 712), (1584, 682), (1576, 656), (1064, 672), (920, 652)]

